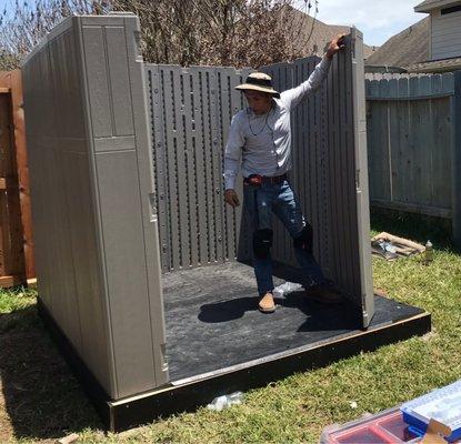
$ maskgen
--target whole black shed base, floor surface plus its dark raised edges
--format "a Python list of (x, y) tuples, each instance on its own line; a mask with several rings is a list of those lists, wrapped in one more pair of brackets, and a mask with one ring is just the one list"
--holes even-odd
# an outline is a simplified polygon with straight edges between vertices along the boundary
[[(293, 270), (275, 273), (295, 282)], [(107, 396), (39, 300), (43, 321), (112, 432), (193, 411), (214, 396), (263, 386), (431, 329), (429, 313), (380, 296), (367, 330), (348, 304), (323, 306), (302, 292), (280, 297), (275, 313), (262, 314), (252, 269), (235, 262), (164, 274), (163, 292), (171, 383), (119, 401)]]

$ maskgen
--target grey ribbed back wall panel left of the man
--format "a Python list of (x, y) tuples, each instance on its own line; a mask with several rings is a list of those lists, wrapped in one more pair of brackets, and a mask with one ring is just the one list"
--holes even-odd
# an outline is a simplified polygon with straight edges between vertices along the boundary
[(241, 209), (224, 205), (223, 149), (247, 71), (148, 64), (147, 74), (162, 270), (235, 260)]

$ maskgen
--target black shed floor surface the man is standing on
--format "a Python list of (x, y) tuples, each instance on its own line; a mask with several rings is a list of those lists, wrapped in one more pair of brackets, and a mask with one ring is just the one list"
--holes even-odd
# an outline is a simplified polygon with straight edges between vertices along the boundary
[[(322, 305), (303, 292), (277, 299), (273, 314), (260, 313), (253, 270), (238, 262), (167, 273), (163, 296), (172, 382), (360, 331), (357, 309)], [(375, 296), (369, 330), (420, 313)]]

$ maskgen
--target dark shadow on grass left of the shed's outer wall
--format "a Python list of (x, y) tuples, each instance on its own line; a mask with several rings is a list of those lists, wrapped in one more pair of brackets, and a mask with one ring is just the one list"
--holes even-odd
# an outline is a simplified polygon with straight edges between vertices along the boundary
[(12, 430), (16, 438), (50, 440), (101, 428), (34, 305), (0, 314), (0, 406), (10, 417), (10, 424), (0, 421), (0, 428)]

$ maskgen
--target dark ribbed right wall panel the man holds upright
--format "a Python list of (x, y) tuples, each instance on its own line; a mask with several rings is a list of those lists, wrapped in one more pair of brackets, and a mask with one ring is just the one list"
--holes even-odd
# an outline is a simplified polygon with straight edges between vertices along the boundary
[[(304, 100), (292, 118), (293, 168), (291, 182), (298, 193), (301, 206), (314, 231), (314, 255), (328, 278), (334, 280), (358, 306), (362, 305), (365, 293), (371, 293), (371, 270), (362, 265), (361, 249), (368, 246), (368, 230), (359, 214), (368, 218), (368, 184), (363, 190), (358, 180), (367, 164), (363, 164), (364, 102), (355, 107), (363, 95), (360, 75), (363, 64), (357, 67), (361, 51), (361, 37), (352, 30), (344, 51), (334, 58), (328, 80), (314, 94)], [(300, 84), (320, 62), (311, 57), (293, 63), (278, 63), (265, 67), (264, 71), (274, 79), (275, 88), (285, 90)], [(363, 78), (363, 73), (361, 74)], [(362, 122), (359, 122), (359, 113)], [(359, 125), (362, 124), (361, 131)], [(365, 142), (365, 140), (364, 140)], [(355, 181), (357, 180), (357, 181)], [(360, 198), (360, 209), (358, 199)], [(367, 219), (365, 218), (365, 219)], [(274, 224), (272, 256), (283, 263), (297, 265), (292, 240), (280, 222)], [(360, 239), (359, 236), (363, 238)], [(367, 241), (364, 241), (367, 239)], [(360, 243), (360, 244), (359, 244)], [(362, 282), (361, 276), (368, 278)], [(363, 289), (367, 282), (368, 290)]]

